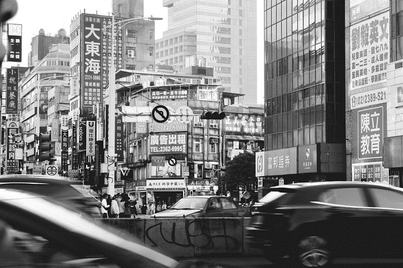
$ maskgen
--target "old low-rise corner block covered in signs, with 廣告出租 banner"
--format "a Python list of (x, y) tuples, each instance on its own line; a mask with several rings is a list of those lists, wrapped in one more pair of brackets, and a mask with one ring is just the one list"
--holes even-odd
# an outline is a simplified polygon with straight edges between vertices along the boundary
[[(137, 122), (126, 123), (123, 130), (125, 159), (117, 169), (129, 168), (129, 174), (118, 173), (124, 183), (115, 184), (120, 188), (116, 192), (125, 191), (144, 203), (169, 204), (184, 196), (217, 193), (225, 161), (243, 150), (263, 146), (263, 108), (242, 106), (237, 101), (240, 94), (222, 92), (220, 78), (200, 75), (197, 68), (193, 71), (187, 75), (125, 69), (117, 72), (121, 85), (117, 99), (121, 105), (126, 101), (143, 109), (165, 105), (172, 113), (187, 106), (195, 116), (186, 120), (186, 116), (171, 115), (168, 123), (156, 123), (150, 116), (128, 115), (124, 120)], [(212, 68), (205, 67), (204, 72), (212, 73)], [(207, 110), (225, 111), (226, 117), (201, 119)], [(172, 158), (177, 164), (171, 166), (168, 162)]]

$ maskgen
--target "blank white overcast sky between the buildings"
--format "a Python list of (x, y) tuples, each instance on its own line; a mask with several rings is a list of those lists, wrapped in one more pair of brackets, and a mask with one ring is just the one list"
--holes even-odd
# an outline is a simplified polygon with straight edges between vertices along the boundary
[[(27, 66), (31, 40), (38, 34), (39, 29), (43, 29), (45, 34), (55, 35), (59, 29), (64, 28), (70, 35), (72, 19), (84, 12), (84, 9), (85, 13), (98, 11), (100, 15), (108, 15), (111, 11), (111, 0), (17, 0), (17, 2), (19, 5), (17, 15), (8, 23), (22, 24), (21, 66)], [(257, 100), (258, 103), (263, 103), (263, 0), (257, 0), (257, 5)], [(161, 21), (155, 21), (156, 39), (161, 38), (162, 33), (167, 30), (167, 14), (167, 8), (162, 6), (162, 0), (144, 0), (145, 17), (152, 15), (163, 18)], [(16, 66), (16, 63), (3, 65), (3, 67), (11, 66)]]

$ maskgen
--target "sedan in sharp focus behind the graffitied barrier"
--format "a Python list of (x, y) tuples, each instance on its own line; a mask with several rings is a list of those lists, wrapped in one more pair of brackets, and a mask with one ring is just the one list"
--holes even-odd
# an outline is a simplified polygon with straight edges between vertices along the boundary
[(151, 217), (250, 217), (246, 208), (239, 206), (232, 199), (220, 196), (185, 197), (167, 210), (155, 213)]

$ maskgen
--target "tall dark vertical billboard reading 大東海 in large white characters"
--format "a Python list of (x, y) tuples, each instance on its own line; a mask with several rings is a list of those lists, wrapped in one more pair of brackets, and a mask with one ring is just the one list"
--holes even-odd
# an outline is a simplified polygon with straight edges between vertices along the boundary
[[(118, 20), (122, 19), (116, 18)], [(84, 107), (92, 107), (103, 100), (103, 90), (109, 77), (112, 27), (102, 29), (111, 23), (112, 19), (108, 16), (81, 14), (81, 105)], [(115, 63), (117, 68), (122, 68), (122, 27), (115, 25), (113, 28), (117, 40)]]

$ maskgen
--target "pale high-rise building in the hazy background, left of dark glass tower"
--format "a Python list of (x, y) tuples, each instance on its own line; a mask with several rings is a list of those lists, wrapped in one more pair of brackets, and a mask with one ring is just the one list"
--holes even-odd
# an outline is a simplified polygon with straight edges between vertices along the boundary
[(168, 30), (155, 42), (156, 61), (181, 72), (194, 55), (214, 68), (225, 92), (256, 103), (256, 0), (164, 0), (163, 6)]

